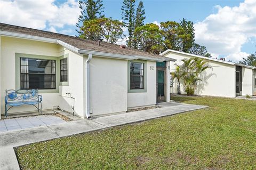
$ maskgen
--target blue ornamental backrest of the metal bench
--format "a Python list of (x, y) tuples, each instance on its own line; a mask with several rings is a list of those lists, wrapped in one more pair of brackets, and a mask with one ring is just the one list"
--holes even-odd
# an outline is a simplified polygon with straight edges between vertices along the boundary
[(6, 90), (5, 102), (38, 101), (38, 90)]

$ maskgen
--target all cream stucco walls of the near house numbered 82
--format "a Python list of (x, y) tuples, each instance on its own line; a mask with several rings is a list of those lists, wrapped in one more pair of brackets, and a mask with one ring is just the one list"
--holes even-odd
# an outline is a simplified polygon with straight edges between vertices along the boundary
[[(29, 54), (31, 56), (50, 56), (59, 61), (62, 57), (68, 58), (68, 83), (56, 84), (57, 89), (51, 92), (39, 90), (43, 96), (42, 109), (52, 109), (60, 106), (62, 109), (73, 112), (71, 107), (76, 99), (76, 114), (85, 117), (85, 57), (71, 52), (66, 48), (46, 42), (2, 36), (0, 38), (0, 105), (1, 114), (4, 114), (5, 90), (18, 90), (17, 68), (15, 69), (15, 54)], [(168, 63), (169, 64), (169, 63)], [(156, 104), (156, 62), (146, 62), (146, 92), (128, 93), (128, 61), (93, 56), (90, 62), (90, 109), (91, 116), (125, 112), (127, 108), (144, 107)], [(57, 63), (58, 66), (58, 63)], [(150, 69), (154, 67), (154, 69)], [(19, 69), (19, 68), (18, 68)], [(60, 74), (57, 68), (56, 75)], [(169, 84), (169, 74), (166, 75)], [(18, 84), (18, 85), (17, 85)], [(168, 90), (166, 90), (168, 93)], [(167, 98), (168, 94), (167, 94)], [(168, 101), (168, 100), (167, 100)], [(13, 107), (9, 113), (35, 111), (33, 106), (23, 105)]]

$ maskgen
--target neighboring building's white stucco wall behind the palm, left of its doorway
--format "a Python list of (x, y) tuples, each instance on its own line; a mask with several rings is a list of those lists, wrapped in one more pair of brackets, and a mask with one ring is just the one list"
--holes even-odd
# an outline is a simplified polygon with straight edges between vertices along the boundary
[[(175, 62), (170, 62), (170, 71), (175, 70), (174, 63), (182, 64), (181, 60), (189, 59), (191, 56), (185, 54), (177, 54), (169, 52), (164, 56), (176, 59)], [(206, 69), (202, 74), (201, 82), (198, 82), (196, 90), (197, 95), (235, 97), (235, 66), (230, 64), (209, 61), (209, 66), (212, 68)], [(177, 83), (170, 88), (171, 93), (177, 93)], [(181, 93), (185, 94), (183, 85), (181, 84)]]

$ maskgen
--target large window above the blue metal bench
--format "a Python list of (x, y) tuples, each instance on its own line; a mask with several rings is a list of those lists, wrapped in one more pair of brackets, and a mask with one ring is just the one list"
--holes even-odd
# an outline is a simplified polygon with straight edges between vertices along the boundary
[(55, 89), (55, 60), (20, 58), (21, 89)]

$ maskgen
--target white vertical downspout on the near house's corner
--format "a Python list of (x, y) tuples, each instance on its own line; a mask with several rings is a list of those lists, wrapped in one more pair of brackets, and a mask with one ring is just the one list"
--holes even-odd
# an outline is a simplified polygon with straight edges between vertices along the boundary
[(88, 119), (91, 118), (90, 116), (90, 61), (92, 60), (92, 54), (88, 55), (87, 60), (85, 60), (85, 115)]

